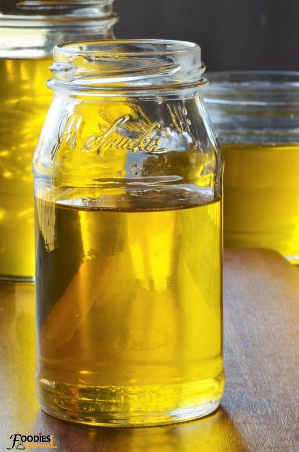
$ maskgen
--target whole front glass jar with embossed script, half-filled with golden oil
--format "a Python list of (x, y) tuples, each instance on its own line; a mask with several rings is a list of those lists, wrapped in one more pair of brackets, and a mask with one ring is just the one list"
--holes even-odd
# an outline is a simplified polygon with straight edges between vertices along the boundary
[(152, 425), (219, 405), (222, 157), (198, 45), (54, 49), (33, 160), (37, 391), (70, 421)]

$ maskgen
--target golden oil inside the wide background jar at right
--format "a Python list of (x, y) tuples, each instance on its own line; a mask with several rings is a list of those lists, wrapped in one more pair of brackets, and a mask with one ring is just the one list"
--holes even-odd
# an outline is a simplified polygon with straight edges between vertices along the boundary
[(223, 145), (224, 245), (299, 262), (299, 146)]

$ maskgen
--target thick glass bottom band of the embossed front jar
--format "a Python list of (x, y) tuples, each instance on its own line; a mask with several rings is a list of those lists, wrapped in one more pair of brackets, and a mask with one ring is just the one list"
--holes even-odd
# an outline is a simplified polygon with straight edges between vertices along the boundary
[[(192, 387), (194, 383), (190, 385)], [(134, 391), (132, 388), (124, 387), (83, 388), (55, 384), (40, 378), (37, 389), (42, 410), (59, 419), (103, 427), (149, 427), (190, 421), (215, 411), (223, 395), (223, 371), (216, 378), (198, 382), (197, 388), (201, 390), (195, 394), (193, 388), (192, 396), (191, 393), (185, 392), (188, 384), (181, 384), (172, 390), (171, 386), (174, 385), (160, 387), (163, 394), (161, 397), (155, 388), (151, 392), (150, 386), (135, 387)], [(202, 391), (203, 388), (206, 389), (205, 393)], [(178, 398), (179, 392), (181, 399)], [(169, 407), (171, 395), (173, 395), (172, 407), (166, 410), (165, 400)], [(161, 403), (161, 399), (164, 403)]]

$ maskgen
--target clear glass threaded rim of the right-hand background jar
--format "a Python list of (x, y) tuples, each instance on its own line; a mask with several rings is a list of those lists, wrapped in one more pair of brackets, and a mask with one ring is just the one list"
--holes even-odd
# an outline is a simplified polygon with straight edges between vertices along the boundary
[(206, 102), (245, 104), (299, 103), (299, 72), (220, 71), (207, 74)]

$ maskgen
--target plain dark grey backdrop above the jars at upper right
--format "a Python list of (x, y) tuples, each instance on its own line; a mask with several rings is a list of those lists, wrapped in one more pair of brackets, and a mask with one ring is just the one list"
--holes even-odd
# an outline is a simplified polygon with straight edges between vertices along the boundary
[(197, 42), (211, 70), (299, 70), (299, 0), (115, 0), (117, 38)]

